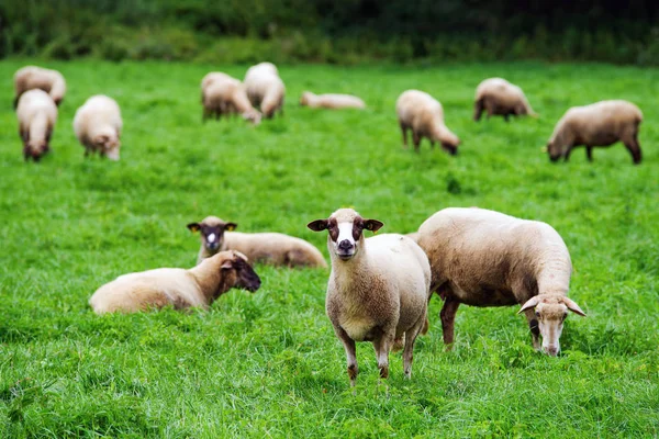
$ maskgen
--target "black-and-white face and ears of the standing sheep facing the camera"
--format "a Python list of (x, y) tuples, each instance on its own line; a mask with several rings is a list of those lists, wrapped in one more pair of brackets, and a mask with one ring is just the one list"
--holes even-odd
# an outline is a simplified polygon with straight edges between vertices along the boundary
[(378, 219), (364, 219), (351, 209), (339, 209), (327, 219), (312, 221), (306, 226), (314, 232), (327, 230), (330, 254), (348, 261), (364, 245), (364, 230), (377, 232), (383, 224)]

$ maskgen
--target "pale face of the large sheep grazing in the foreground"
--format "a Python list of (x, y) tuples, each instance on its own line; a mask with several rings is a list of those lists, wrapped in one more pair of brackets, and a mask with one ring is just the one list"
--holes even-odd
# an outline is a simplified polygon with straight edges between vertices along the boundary
[(535, 318), (543, 337), (543, 351), (556, 357), (560, 351), (560, 335), (563, 322), (568, 317), (568, 311), (581, 316), (585, 313), (571, 299), (562, 294), (541, 294), (526, 302), (520, 312), (535, 307)]

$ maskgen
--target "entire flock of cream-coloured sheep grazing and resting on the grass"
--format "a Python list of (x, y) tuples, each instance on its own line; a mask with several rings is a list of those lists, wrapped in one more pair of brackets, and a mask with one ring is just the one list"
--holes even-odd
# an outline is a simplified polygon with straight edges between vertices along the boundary
[[(54, 70), (24, 67), (14, 76), (14, 105), (25, 159), (35, 161), (48, 151), (66, 85)], [(247, 70), (245, 80), (210, 72), (201, 82), (203, 121), (232, 114), (259, 124), (261, 116), (283, 112), (286, 87), (277, 67), (261, 63)], [(304, 92), (302, 105), (327, 109), (364, 109), (357, 97), (316, 95)], [(456, 154), (460, 143), (444, 123), (442, 104), (418, 90), (403, 92), (396, 114), (407, 146), (407, 131), (418, 149), (421, 139), (439, 143)], [(474, 120), (488, 116), (532, 115), (535, 112), (522, 89), (501, 78), (487, 79), (476, 91)], [(638, 127), (643, 115), (626, 101), (603, 101), (568, 110), (548, 142), (551, 160), (568, 159), (576, 146), (592, 148), (622, 140), (634, 162), (641, 160)], [(74, 130), (86, 155), (98, 151), (119, 159), (122, 120), (119, 105), (94, 95), (76, 112)], [(235, 223), (209, 216), (187, 225), (199, 232), (198, 264), (190, 269), (163, 268), (119, 277), (99, 288), (89, 303), (96, 313), (139, 312), (174, 306), (208, 307), (232, 288), (256, 291), (260, 279), (252, 263), (326, 268), (312, 244), (278, 233), (234, 232)], [(548, 224), (515, 218), (478, 207), (445, 209), (409, 235), (377, 232), (378, 219), (366, 219), (351, 209), (339, 209), (327, 218), (308, 224), (327, 230), (332, 272), (326, 312), (347, 357), (355, 385), (358, 368), (356, 341), (373, 344), (380, 376), (389, 375), (389, 353), (403, 349), (405, 376), (411, 376), (416, 337), (428, 330), (427, 304), (433, 293), (444, 301), (440, 313), (444, 342), (454, 342), (454, 322), (460, 304), (471, 306), (521, 305), (533, 345), (550, 356), (560, 350), (559, 338), (569, 312), (584, 312), (567, 296), (572, 266), (569, 251)], [(540, 344), (541, 337), (541, 344)]]

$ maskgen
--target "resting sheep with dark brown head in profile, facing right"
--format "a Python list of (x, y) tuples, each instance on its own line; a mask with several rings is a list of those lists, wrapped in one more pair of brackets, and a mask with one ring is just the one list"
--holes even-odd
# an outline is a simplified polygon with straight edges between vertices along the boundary
[(221, 251), (189, 270), (159, 268), (120, 275), (99, 288), (89, 305), (97, 314), (136, 313), (168, 305), (208, 309), (232, 288), (255, 292), (260, 279), (245, 255)]

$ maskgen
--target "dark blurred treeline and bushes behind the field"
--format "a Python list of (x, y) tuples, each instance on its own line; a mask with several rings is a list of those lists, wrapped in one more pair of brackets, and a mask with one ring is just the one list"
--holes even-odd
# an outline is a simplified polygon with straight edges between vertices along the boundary
[(659, 64), (659, 2), (2, 0), (0, 56)]

